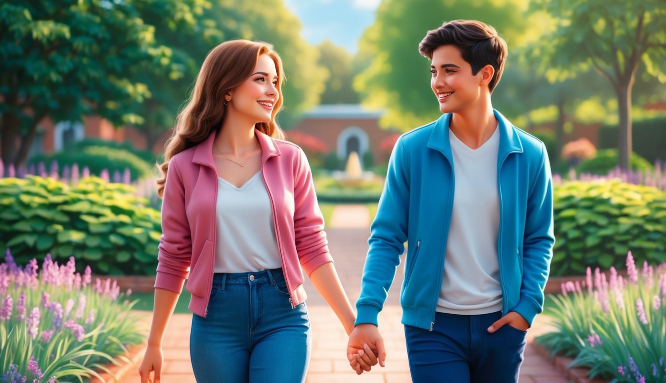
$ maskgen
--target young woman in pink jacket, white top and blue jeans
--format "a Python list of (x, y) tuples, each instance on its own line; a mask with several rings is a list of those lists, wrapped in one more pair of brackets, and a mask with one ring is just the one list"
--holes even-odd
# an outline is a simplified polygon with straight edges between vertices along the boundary
[(304, 381), (310, 323), (301, 267), (347, 333), (354, 326), (310, 167), (298, 146), (280, 140), (282, 80), (271, 45), (222, 43), (178, 116), (157, 182), (163, 235), (141, 382), (160, 380), (163, 336), (185, 279), (199, 382)]

